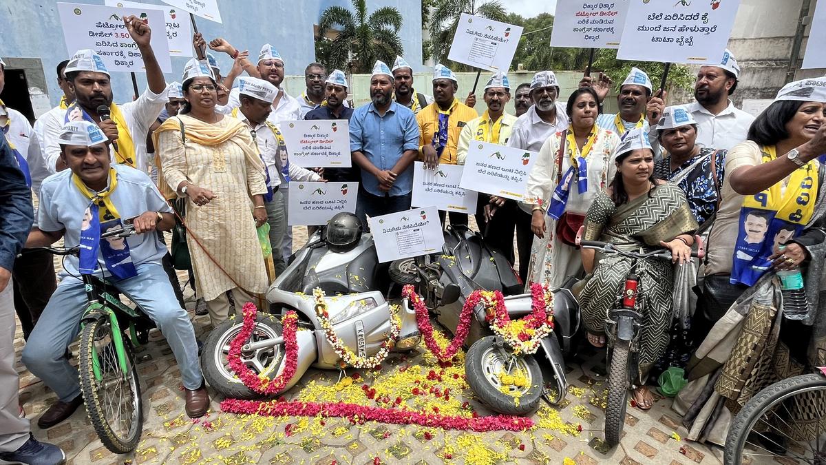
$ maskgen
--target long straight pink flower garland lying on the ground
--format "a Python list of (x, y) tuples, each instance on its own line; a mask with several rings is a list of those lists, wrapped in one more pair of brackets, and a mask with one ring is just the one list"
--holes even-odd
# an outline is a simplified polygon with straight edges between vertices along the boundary
[(323, 416), (349, 418), (354, 422), (378, 421), (387, 424), (418, 424), (431, 428), (465, 431), (525, 431), (534, 426), (528, 417), (491, 415), (467, 418), (454, 415), (424, 414), (414, 410), (385, 409), (344, 402), (297, 402), (278, 400), (226, 399), (221, 410), (240, 415)]

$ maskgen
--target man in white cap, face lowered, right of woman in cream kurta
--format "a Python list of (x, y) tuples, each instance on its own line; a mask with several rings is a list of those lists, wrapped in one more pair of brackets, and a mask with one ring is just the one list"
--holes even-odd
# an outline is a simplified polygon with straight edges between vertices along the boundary
[(253, 140), (258, 145), (263, 164), (267, 167), (268, 193), (264, 195), (269, 223), (269, 242), (273, 247), (273, 266), (276, 275), (287, 267), (283, 253), (284, 238), (287, 237), (287, 205), (280, 189), (288, 180), (319, 181), (321, 176), (311, 170), (292, 165), (287, 160), (287, 145), (278, 126), (267, 117), (273, 111), (273, 99), (278, 89), (268, 81), (258, 78), (239, 78), (241, 106), (232, 111), (249, 127)]

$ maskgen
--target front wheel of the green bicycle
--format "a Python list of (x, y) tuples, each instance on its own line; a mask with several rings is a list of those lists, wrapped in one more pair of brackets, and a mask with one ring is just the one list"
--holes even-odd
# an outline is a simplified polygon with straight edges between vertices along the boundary
[[(107, 318), (83, 327), (80, 335), (80, 391), (92, 425), (107, 449), (128, 453), (138, 445), (143, 429), (140, 381), (130, 343), (124, 340), (126, 375), (118, 364), (115, 337)], [(96, 371), (98, 375), (96, 376)]]

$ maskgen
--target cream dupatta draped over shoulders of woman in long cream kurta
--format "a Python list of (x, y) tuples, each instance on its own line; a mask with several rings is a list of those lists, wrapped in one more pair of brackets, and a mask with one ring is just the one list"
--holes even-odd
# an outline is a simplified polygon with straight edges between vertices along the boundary
[[(230, 118), (229, 124), (221, 126), (218, 124), (210, 124), (202, 122), (201, 120), (187, 115), (178, 115), (178, 117), (170, 117), (163, 124), (155, 130), (152, 134), (152, 141), (154, 142), (155, 152), (155, 166), (158, 167), (158, 188), (161, 194), (164, 194), (165, 199), (174, 199), (178, 193), (169, 187), (169, 184), (164, 179), (163, 159), (164, 157), (178, 156), (178, 153), (162, 153), (159, 144), (159, 136), (164, 131), (178, 131), (181, 132), (181, 120), (186, 119), (183, 131), (186, 133), (187, 141), (192, 141), (201, 146), (217, 146), (226, 141), (235, 143), (244, 151), (244, 159), (254, 169), (264, 172), (263, 161), (259, 156), (258, 147), (254, 145), (252, 136), (249, 135), (249, 129), (240, 119)], [(186, 147), (181, 147), (181, 156), (186, 160)]]

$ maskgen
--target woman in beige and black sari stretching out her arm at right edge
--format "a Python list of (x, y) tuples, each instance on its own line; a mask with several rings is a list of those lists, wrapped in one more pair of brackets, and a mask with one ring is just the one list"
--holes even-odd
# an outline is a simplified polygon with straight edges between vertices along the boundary
[[(826, 153), (824, 85), (787, 84), (726, 157), (706, 274), (723, 271), (745, 291), (697, 348), (691, 382), (674, 403), (691, 440), (724, 444), (732, 416), (758, 391), (826, 364), (826, 170), (816, 160)], [(785, 313), (772, 271), (799, 267), (807, 314), (778, 318)]]

